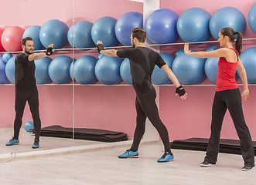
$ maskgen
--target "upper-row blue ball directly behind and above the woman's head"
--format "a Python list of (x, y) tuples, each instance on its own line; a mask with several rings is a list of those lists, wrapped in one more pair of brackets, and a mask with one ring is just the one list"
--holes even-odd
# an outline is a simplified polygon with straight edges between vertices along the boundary
[(219, 39), (220, 29), (230, 27), (235, 32), (241, 32), (244, 35), (246, 29), (246, 19), (244, 14), (233, 7), (220, 8), (210, 18), (210, 33), (213, 38)]

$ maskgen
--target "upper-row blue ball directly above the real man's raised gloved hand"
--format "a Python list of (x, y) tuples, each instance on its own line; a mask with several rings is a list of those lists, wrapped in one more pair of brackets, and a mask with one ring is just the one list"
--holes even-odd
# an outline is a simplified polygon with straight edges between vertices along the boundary
[(94, 22), (94, 25), (91, 28), (91, 38), (93, 39), (95, 45), (97, 44), (97, 41), (102, 41), (104, 47), (119, 44), (114, 33), (114, 26), (116, 22), (117, 19), (112, 17), (102, 17)]

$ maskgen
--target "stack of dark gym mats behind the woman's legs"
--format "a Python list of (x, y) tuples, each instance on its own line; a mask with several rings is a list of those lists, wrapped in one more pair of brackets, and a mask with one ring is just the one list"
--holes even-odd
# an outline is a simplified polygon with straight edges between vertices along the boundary
[[(207, 151), (207, 138), (189, 138), (187, 140), (173, 140), (170, 144), (172, 149)], [(256, 142), (254, 144), (254, 155), (256, 156)], [(220, 139), (220, 153), (241, 154), (239, 140)]]

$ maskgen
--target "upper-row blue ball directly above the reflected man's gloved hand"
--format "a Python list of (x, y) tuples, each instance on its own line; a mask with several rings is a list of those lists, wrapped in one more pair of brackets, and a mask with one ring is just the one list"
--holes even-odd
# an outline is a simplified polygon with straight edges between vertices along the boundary
[(53, 49), (61, 49), (67, 45), (67, 25), (56, 19), (44, 23), (39, 32), (39, 39), (45, 48), (53, 44)]

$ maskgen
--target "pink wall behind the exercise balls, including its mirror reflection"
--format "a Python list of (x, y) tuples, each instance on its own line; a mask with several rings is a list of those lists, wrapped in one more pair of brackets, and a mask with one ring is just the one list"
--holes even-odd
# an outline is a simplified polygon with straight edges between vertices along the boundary
[[(72, 25), (73, 1), (62, 0), (28, 0), (28, 1), (1, 1), (2, 19), (0, 27), (19, 25), (27, 28), (29, 25), (43, 25), (49, 19), (60, 19), (70, 27)], [(50, 6), (47, 5), (49, 3)], [(160, 8), (170, 8), (181, 15), (188, 8), (204, 8), (211, 15), (219, 8), (233, 6), (241, 10), (247, 18), (247, 13), (254, 4), (254, 0), (242, 1), (205, 1), (205, 0), (161, 0)], [(24, 9), (29, 8), (26, 12)], [(38, 7), (38, 8), (35, 8)], [(127, 0), (75, 0), (76, 22), (95, 22), (103, 16), (119, 18), (126, 12), (141, 12), (142, 4)], [(8, 16), (6, 16), (8, 15)], [(247, 26), (244, 38), (255, 37)], [(211, 38), (213, 39), (213, 38)], [(178, 42), (182, 42), (179, 39)], [(193, 45), (192, 49), (204, 50), (207, 44)], [(255, 46), (254, 42), (244, 42), (244, 49)], [(166, 46), (161, 52), (172, 55), (183, 45)], [(70, 55), (70, 52), (58, 52), (60, 55)], [(89, 52), (75, 52), (75, 58), (82, 55), (97, 56), (96, 50)], [(53, 55), (52, 58), (55, 58)], [(204, 82), (211, 84), (209, 80)], [(254, 105), (256, 98), (253, 96), (256, 87), (250, 86), (250, 98), (243, 102), (244, 116), (251, 135), (256, 140), (254, 126)], [(170, 140), (186, 139), (189, 137), (209, 137), (211, 106), (215, 93), (214, 86), (187, 86), (188, 99), (182, 101), (174, 95), (173, 86), (160, 87), (160, 116), (169, 130)], [(12, 127), (14, 112), (14, 86), (0, 86), (0, 118), (1, 127)], [(131, 86), (75, 86), (75, 126), (116, 130), (133, 136), (135, 129), (135, 93)], [(39, 110), (42, 126), (58, 124), (72, 126), (72, 86), (39, 86)], [(28, 107), (26, 107), (23, 121), (31, 120)], [(237, 139), (233, 123), (227, 113), (224, 119), (222, 138)]]

